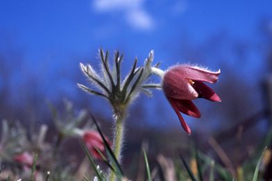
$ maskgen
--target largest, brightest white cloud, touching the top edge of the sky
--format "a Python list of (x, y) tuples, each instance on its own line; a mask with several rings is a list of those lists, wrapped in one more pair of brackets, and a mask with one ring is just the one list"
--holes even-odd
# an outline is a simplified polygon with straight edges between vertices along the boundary
[(155, 23), (143, 7), (144, 0), (94, 0), (94, 9), (98, 12), (121, 11), (124, 20), (132, 28), (141, 31), (151, 30)]

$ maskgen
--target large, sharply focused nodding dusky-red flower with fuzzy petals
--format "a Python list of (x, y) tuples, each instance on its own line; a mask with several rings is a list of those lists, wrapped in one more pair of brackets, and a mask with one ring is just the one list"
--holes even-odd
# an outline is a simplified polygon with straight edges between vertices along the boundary
[(178, 115), (182, 128), (189, 134), (191, 129), (182, 118), (180, 112), (199, 118), (201, 113), (192, 100), (205, 98), (210, 101), (221, 102), (217, 94), (205, 83), (216, 83), (219, 71), (209, 71), (201, 67), (180, 64), (168, 69), (162, 80), (162, 89), (173, 110)]

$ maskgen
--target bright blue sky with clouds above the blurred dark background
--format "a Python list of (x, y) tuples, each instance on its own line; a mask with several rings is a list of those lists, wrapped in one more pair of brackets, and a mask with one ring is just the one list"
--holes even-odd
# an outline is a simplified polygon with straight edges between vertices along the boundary
[(227, 31), (250, 39), (271, 1), (1, 1), (1, 34), (10, 35), (29, 60), (49, 54), (93, 53), (99, 46), (142, 58), (189, 33), (192, 42)]

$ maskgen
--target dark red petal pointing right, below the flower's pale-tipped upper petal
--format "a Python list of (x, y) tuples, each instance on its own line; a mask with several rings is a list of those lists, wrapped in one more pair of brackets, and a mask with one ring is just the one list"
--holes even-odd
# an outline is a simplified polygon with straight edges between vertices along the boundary
[(205, 83), (194, 81), (193, 87), (196, 89), (196, 92), (198, 92), (200, 98), (203, 97), (210, 101), (221, 102), (221, 98), (210, 87), (205, 85)]

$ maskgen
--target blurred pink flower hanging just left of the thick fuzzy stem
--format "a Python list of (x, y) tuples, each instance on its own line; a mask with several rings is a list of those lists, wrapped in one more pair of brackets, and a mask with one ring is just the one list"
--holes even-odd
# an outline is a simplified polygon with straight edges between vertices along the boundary
[[(105, 153), (105, 147), (103, 144), (103, 139), (99, 135), (99, 132), (94, 130), (87, 130), (83, 134), (83, 141), (85, 142), (88, 150), (96, 159), (101, 159), (101, 155), (97, 152), (96, 148), (101, 151), (101, 153)], [(108, 141), (108, 139), (107, 139)]]

